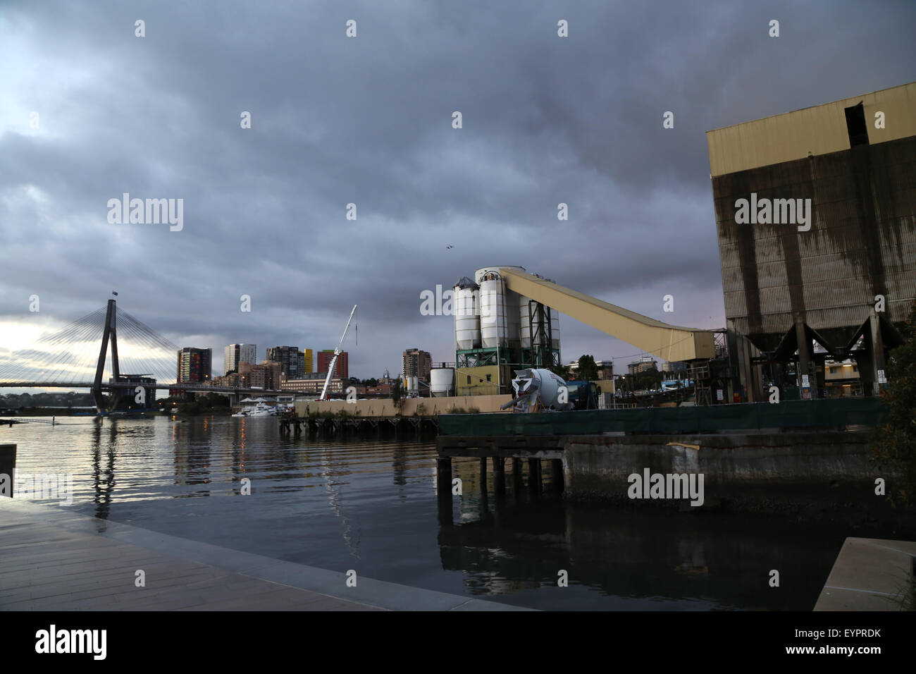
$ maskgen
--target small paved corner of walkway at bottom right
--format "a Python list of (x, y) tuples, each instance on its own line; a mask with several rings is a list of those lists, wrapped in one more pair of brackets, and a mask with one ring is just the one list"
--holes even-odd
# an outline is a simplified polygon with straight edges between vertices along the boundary
[(900, 611), (912, 582), (916, 542), (846, 538), (815, 611)]

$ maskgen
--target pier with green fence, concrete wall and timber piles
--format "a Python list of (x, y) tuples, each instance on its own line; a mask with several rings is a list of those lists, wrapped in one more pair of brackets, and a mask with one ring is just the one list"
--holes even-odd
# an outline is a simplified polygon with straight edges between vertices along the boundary
[[(506, 459), (518, 481), (522, 461), (540, 490), (540, 475), (564, 497), (627, 503), (628, 479), (651, 470), (702, 473), (707, 507), (793, 507), (800, 512), (847, 501), (871, 510), (875, 466), (867, 427), (880, 401), (819, 400), (714, 407), (596, 410), (541, 414), (443, 414), (439, 418), (440, 490), (452, 481), (452, 459), (493, 464), (496, 489)], [(676, 504), (667, 502), (669, 505)], [(884, 505), (881, 503), (880, 505)]]

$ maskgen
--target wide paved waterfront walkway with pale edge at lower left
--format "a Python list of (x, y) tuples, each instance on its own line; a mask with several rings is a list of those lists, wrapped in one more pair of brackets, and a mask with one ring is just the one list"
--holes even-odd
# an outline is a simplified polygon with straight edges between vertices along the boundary
[[(136, 587), (143, 569), (146, 586)], [(0, 498), (0, 610), (518, 610)]]

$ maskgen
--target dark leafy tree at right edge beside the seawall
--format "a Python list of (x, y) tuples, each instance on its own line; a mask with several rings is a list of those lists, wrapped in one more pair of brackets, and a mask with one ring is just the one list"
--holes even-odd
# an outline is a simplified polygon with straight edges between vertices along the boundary
[(881, 423), (873, 431), (874, 459), (897, 473), (888, 496), (904, 505), (916, 503), (916, 302), (901, 326), (904, 341), (890, 352), (889, 388)]

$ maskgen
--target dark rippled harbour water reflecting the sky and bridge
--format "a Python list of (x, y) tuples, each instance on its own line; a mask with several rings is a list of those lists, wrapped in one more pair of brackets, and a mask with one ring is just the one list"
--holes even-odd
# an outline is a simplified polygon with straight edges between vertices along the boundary
[[(437, 508), (435, 445), (281, 436), (276, 419), (81, 417), (0, 428), (19, 473), (73, 475), (81, 514), (324, 569), (540, 609), (811, 610), (848, 527), (484, 496)], [(508, 469), (507, 462), (507, 469)], [(241, 495), (243, 478), (251, 494)], [(55, 502), (46, 502), (55, 503)], [(54, 506), (61, 507), (61, 506)], [(449, 524), (451, 520), (451, 524)], [(559, 572), (569, 586), (558, 587)], [(769, 587), (779, 569), (780, 587)]]

